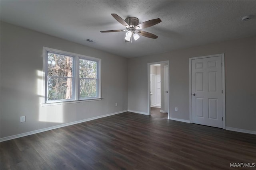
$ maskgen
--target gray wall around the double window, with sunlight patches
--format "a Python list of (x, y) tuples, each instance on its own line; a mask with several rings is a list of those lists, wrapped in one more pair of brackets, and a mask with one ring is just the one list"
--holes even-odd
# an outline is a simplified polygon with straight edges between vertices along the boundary
[[(43, 46), (102, 59), (103, 99), (42, 107)], [(127, 110), (127, 62), (123, 57), (1, 22), (1, 138)], [(23, 115), (26, 122), (20, 123)]]

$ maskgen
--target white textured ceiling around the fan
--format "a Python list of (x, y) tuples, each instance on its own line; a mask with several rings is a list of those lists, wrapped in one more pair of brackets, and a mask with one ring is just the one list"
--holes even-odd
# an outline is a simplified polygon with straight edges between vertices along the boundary
[[(256, 35), (256, 1), (0, 1), (1, 21), (84, 44), (122, 57), (140, 57)], [(161, 23), (125, 43), (125, 29), (110, 14)], [(242, 17), (254, 15), (251, 20)], [(95, 43), (89, 43), (92, 39)]]

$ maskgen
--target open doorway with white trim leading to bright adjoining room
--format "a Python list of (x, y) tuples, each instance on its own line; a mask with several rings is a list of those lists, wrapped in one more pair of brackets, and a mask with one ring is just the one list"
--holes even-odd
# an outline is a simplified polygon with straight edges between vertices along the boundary
[(148, 115), (151, 108), (168, 113), (169, 119), (169, 61), (148, 63)]

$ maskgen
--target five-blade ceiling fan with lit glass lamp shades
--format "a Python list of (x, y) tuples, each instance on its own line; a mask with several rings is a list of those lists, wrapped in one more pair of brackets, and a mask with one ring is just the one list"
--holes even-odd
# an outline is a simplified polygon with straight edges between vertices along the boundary
[(145, 21), (142, 22), (140, 24), (139, 23), (139, 19), (136, 17), (128, 17), (125, 20), (123, 20), (120, 16), (116, 15), (116, 14), (111, 14), (118, 22), (120, 22), (122, 25), (124, 25), (126, 27), (126, 29), (116, 29), (116, 30), (108, 30), (108, 31), (100, 31), (102, 33), (111, 33), (111, 32), (121, 32), (121, 31), (126, 31), (126, 37), (125, 42), (130, 42), (131, 41), (131, 37), (133, 35), (134, 40), (136, 41), (138, 38), (140, 38), (139, 35), (142, 35), (144, 37), (148, 37), (148, 38), (153, 38), (156, 39), (158, 36), (146, 32), (146, 31), (141, 31), (140, 29), (143, 28), (147, 28), (147, 27), (151, 27), (153, 25), (156, 25), (160, 22), (162, 22), (160, 20), (160, 18), (157, 19), (153, 19), (153, 20), (149, 20), (149, 21)]

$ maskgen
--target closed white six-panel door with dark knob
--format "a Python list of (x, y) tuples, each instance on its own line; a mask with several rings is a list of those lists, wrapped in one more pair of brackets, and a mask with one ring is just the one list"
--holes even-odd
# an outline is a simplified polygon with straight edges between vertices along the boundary
[(191, 60), (192, 123), (223, 127), (222, 57)]

